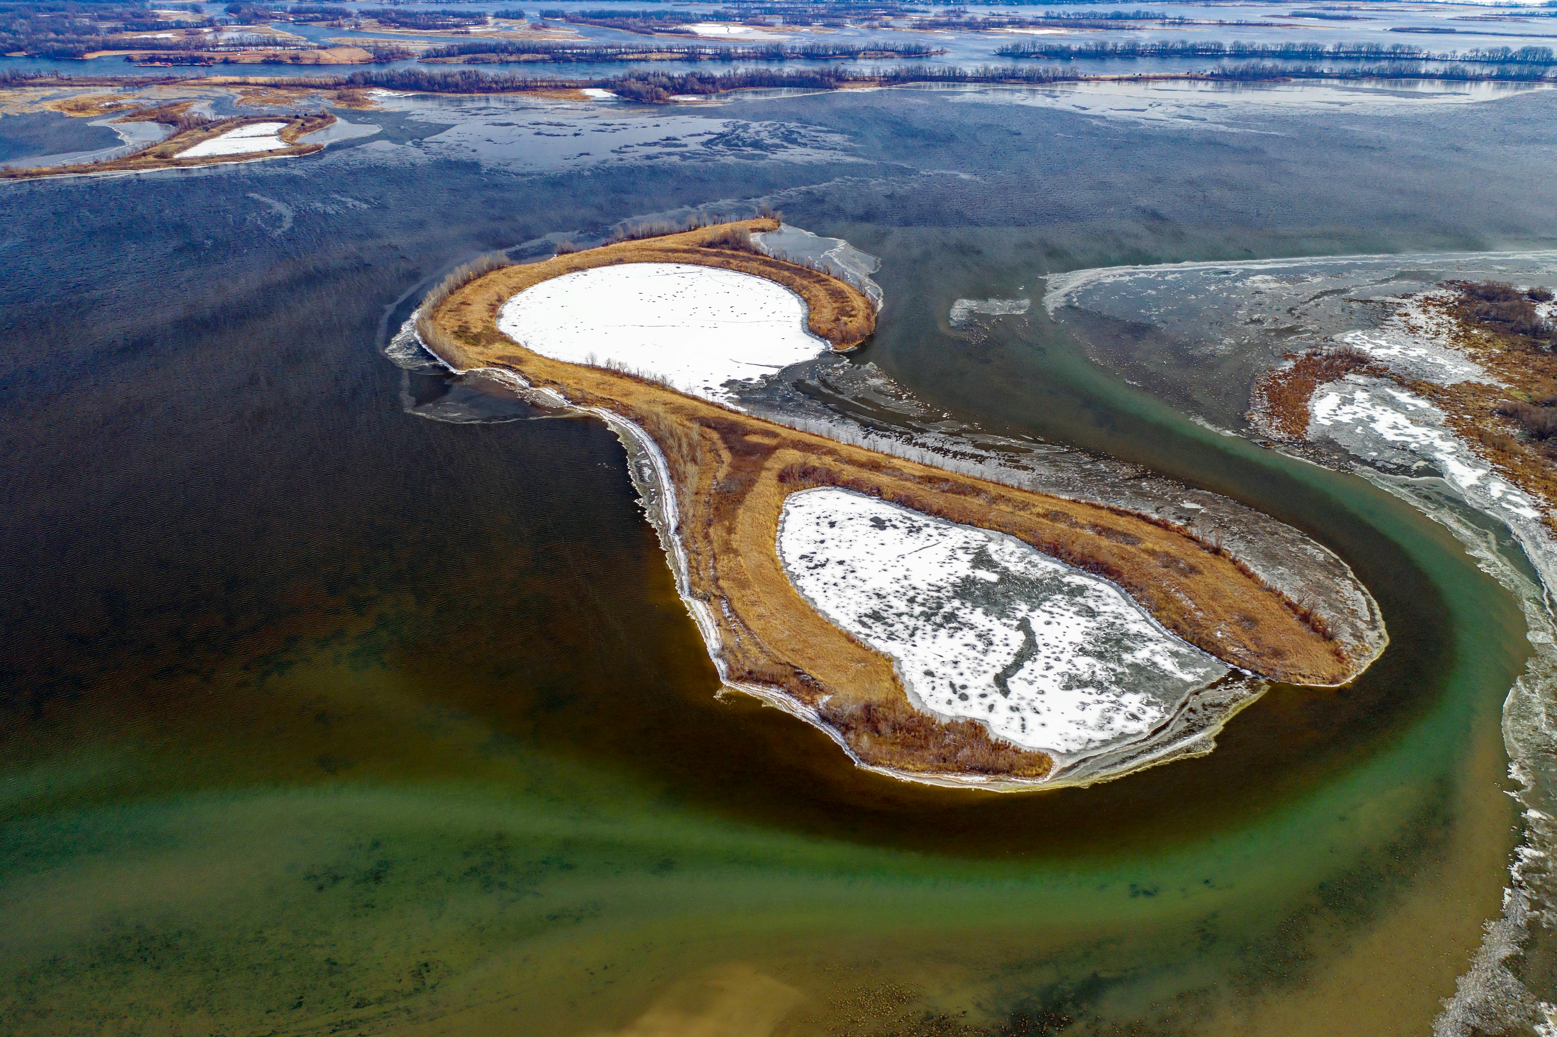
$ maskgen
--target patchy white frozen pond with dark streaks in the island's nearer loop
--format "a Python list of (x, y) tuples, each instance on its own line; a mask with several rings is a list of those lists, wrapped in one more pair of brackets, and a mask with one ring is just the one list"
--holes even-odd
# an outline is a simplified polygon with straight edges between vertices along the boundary
[(1029, 749), (1140, 738), (1227, 673), (1104, 579), (861, 494), (791, 494), (778, 557), (822, 615), (892, 657), (916, 707)]

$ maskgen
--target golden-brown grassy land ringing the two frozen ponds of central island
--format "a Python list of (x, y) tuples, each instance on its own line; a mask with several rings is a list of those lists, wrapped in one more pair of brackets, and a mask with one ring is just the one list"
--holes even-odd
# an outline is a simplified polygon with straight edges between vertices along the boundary
[(1014, 489), (845, 445), (693, 399), (617, 371), (548, 360), (497, 329), (503, 302), (565, 272), (634, 262), (721, 266), (769, 277), (805, 299), (810, 327), (838, 349), (875, 325), (869, 299), (827, 274), (743, 251), (732, 230), (754, 220), (623, 241), (506, 266), (433, 299), (417, 321), (450, 366), (498, 369), (575, 406), (631, 422), (665, 459), (685, 589), (716, 627), (724, 679), (822, 726), (863, 765), (902, 777), (1001, 783), (1042, 780), (1054, 761), (992, 738), (972, 721), (916, 710), (886, 656), (822, 618), (789, 584), (775, 540), (785, 497), (814, 486), (869, 494), (916, 511), (1015, 536), (1124, 589), (1163, 626), (1256, 674), (1337, 685), (1370, 660), (1348, 659), (1323, 623), (1221, 548), (1169, 523)]

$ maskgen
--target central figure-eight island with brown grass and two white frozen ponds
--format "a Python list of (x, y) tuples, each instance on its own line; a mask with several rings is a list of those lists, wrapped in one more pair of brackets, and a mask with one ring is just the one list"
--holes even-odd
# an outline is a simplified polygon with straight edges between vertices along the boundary
[(778, 227), (476, 263), (414, 318), (452, 369), (623, 438), (727, 687), (814, 724), (861, 766), (1007, 789), (1148, 735), (1230, 673), (1336, 687), (1372, 662), (1183, 526), (746, 413), (729, 378), (875, 330), (856, 285), (763, 251)]

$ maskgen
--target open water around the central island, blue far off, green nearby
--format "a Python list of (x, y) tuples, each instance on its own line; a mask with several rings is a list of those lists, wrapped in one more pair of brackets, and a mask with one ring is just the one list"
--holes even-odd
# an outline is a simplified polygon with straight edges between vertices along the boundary
[[(1554, 97), (621, 106), (662, 146), (587, 159), (500, 131), (598, 109), (403, 101), (304, 160), (8, 185), (0, 1032), (1429, 1032), (1521, 838), (1513, 596), (1042, 313), (947, 313), (1082, 266), (1549, 244)], [(1210, 757), (1028, 796), (715, 699), (617, 441), (408, 413), (448, 386), (380, 349), (481, 251), (758, 201), (881, 257), (858, 363), (1303, 528), (1386, 656)]]

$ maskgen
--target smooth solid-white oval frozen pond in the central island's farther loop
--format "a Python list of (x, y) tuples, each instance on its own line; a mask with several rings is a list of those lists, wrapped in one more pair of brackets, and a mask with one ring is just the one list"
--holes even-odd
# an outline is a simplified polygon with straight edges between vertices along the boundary
[(497, 327), (542, 357), (624, 369), (732, 403), (727, 383), (754, 383), (827, 349), (805, 322), (800, 296), (766, 277), (623, 263), (526, 288), (503, 304)]

